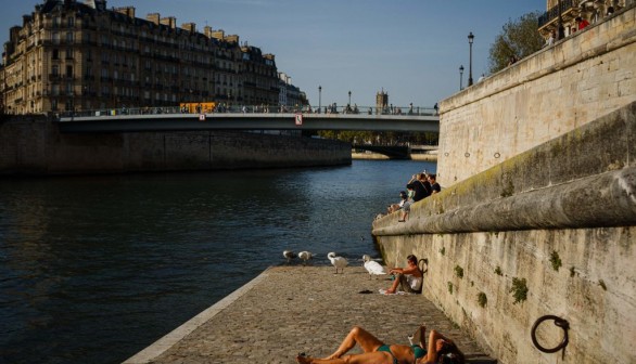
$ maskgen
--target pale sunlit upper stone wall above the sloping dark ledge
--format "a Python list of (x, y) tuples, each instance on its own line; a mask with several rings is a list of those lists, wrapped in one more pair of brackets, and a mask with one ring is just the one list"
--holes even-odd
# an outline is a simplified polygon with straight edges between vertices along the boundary
[(636, 101), (635, 6), (441, 102), (437, 181), (462, 181)]

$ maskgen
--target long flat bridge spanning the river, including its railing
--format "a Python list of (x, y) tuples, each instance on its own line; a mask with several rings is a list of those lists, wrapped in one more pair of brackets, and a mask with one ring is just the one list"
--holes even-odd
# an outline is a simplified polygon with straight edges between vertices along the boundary
[(143, 114), (113, 109), (63, 115), (60, 130), (76, 132), (182, 131), (182, 130), (365, 130), (440, 132), (440, 117), (432, 114), (310, 114), (310, 113), (174, 113)]

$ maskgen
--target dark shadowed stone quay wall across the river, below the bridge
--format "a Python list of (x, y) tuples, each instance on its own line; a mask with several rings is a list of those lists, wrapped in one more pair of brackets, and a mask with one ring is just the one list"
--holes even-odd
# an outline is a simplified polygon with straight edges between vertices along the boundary
[(229, 131), (60, 133), (39, 116), (0, 123), (0, 176), (351, 164), (351, 144)]

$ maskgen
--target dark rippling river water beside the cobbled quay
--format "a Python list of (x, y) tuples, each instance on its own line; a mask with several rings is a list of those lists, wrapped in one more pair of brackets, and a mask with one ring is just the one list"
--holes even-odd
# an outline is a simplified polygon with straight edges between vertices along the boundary
[(378, 256), (373, 218), (435, 168), (0, 180), (0, 363), (119, 363), (284, 249)]

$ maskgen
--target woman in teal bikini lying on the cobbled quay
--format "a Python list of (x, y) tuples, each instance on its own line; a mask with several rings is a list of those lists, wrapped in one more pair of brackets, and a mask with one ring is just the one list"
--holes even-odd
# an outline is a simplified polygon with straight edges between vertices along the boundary
[[(300, 354), (296, 356), (296, 362), (301, 364), (465, 363), (463, 353), (453, 340), (433, 329), (429, 335), (429, 346), (427, 347), (427, 327), (422, 325), (419, 330), (420, 342), (418, 343), (411, 346), (397, 343), (385, 344), (364, 328), (354, 326), (333, 354), (325, 359), (315, 359)], [(364, 353), (345, 355), (356, 343), (360, 346)]]

